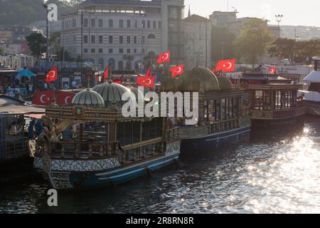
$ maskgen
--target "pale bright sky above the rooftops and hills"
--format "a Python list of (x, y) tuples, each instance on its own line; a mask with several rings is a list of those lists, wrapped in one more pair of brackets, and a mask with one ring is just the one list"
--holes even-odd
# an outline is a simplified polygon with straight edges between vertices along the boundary
[(184, 4), (186, 16), (190, 5), (191, 14), (200, 16), (237, 9), (238, 17), (264, 18), (270, 21), (269, 24), (277, 24), (275, 15), (282, 14), (281, 25), (320, 26), (319, 0), (185, 0)]

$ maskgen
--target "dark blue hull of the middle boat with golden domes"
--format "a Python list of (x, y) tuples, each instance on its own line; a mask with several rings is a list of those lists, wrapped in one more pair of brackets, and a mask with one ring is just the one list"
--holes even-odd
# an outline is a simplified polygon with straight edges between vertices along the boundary
[(206, 135), (201, 138), (186, 138), (181, 140), (181, 153), (206, 151), (217, 149), (237, 142), (243, 142), (250, 138), (250, 126), (238, 128), (228, 132)]

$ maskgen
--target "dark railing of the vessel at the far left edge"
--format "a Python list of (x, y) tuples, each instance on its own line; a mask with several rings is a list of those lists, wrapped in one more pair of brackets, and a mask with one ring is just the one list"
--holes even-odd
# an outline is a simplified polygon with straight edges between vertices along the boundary
[(28, 150), (28, 138), (11, 138), (0, 141), (0, 149), (4, 152), (1, 160), (27, 157), (30, 155)]

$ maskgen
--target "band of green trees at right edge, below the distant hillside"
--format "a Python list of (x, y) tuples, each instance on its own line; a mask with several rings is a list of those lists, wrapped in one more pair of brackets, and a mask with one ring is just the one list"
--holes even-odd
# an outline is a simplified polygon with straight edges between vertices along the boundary
[(304, 62), (306, 58), (320, 56), (320, 39), (295, 41), (290, 38), (278, 38), (269, 48), (270, 56), (279, 59), (289, 58), (293, 62)]

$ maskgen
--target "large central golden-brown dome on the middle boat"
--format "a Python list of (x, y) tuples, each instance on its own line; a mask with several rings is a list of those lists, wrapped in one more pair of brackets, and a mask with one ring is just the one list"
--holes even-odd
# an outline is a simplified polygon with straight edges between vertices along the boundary
[(220, 90), (218, 78), (208, 68), (196, 66), (185, 71), (178, 80), (181, 82), (181, 92), (199, 92), (203, 84), (204, 91)]

